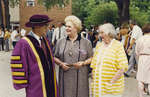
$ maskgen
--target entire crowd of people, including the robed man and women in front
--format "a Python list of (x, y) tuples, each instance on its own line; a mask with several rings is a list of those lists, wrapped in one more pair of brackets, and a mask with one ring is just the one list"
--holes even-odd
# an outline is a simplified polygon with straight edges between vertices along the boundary
[(25, 26), (32, 31), (23, 36), (18, 28), (11, 35), (0, 30), (0, 41), (7, 37), (5, 45), (14, 38), (14, 88), (25, 88), (27, 97), (89, 97), (92, 72), (92, 97), (122, 97), (124, 76), (137, 72), (139, 97), (147, 92), (146, 85), (150, 93), (150, 24), (141, 29), (129, 21), (116, 30), (111, 23), (86, 29), (73, 15), (65, 18), (65, 25), (55, 27), (51, 21), (47, 15), (31, 16)]

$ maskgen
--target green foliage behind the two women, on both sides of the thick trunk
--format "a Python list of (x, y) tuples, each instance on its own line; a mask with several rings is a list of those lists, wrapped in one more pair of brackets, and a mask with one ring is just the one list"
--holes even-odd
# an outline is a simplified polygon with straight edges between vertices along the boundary
[[(120, 10), (118, 8), (118, 5), (121, 3), (123, 4), (124, 3), (123, 0), (85, 0), (85, 1), (88, 1), (86, 3), (85, 1), (83, 2), (83, 0), (76, 0), (76, 1), (77, 2), (81, 1), (81, 2), (80, 4), (76, 4), (73, 7), (73, 10), (74, 8), (77, 8), (77, 10), (73, 14), (77, 15), (82, 20), (84, 20), (86, 25), (103, 23), (104, 21), (110, 21), (114, 23), (115, 25), (119, 24), (120, 22), (119, 18), (121, 16), (120, 14), (118, 14)], [(112, 1), (116, 3), (114, 2), (112, 3)], [(104, 7), (105, 4), (106, 5), (109, 4), (109, 6), (111, 7), (105, 8)], [(82, 8), (79, 5), (84, 6), (84, 7)], [(127, 15), (128, 18), (126, 20), (134, 19), (140, 25), (150, 22), (150, 11), (149, 11), (150, 0), (130, 0), (130, 6), (126, 6), (126, 7), (130, 8), (129, 15)], [(111, 11), (112, 13), (110, 13)], [(122, 10), (122, 11), (126, 12), (125, 10)], [(124, 13), (122, 13), (122, 15), (124, 15)]]

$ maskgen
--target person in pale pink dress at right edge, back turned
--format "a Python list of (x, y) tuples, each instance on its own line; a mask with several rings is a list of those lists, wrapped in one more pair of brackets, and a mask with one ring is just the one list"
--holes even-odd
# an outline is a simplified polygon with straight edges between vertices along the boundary
[(143, 26), (144, 36), (136, 42), (135, 53), (138, 59), (138, 70), (136, 79), (138, 80), (139, 97), (144, 97), (144, 84), (148, 84), (150, 93), (150, 24)]

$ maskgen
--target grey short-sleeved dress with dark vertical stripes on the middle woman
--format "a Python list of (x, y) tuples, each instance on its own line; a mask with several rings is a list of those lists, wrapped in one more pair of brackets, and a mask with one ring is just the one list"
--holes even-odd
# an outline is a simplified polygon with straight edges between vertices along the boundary
[[(73, 64), (84, 61), (92, 56), (90, 41), (78, 35), (72, 42), (69, 37), (61, 39), (56, 44), (55, 57), (61, 61)], [(71, 66), (64, 71), (59, 68), (59, 92), (60, 97), (89, 97), (88, 66), (76, 69)]]

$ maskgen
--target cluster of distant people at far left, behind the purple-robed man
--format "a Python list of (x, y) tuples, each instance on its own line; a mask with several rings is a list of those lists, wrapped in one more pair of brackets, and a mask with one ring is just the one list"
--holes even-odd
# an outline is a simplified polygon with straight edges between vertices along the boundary
[(0, 51), (10, 51), (16, 45), (16, 43), (25, 36), (26, 30), (19, 29), (18, 26), (13, 30), (8, 30), (0, 26)]

